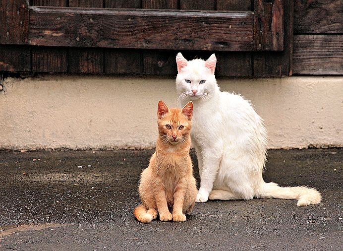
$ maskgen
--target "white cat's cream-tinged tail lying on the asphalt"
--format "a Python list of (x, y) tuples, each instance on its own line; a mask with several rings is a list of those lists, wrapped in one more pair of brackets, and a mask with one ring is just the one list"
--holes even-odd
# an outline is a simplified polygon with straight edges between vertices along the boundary
[(278, 184), (270, 182), (265, 183), (260, 198), (277, 199), (297, 199), (297, 206), (307, 206), (320, 203), (322, 196), (316, 188), (308, 187), (279, 187)]

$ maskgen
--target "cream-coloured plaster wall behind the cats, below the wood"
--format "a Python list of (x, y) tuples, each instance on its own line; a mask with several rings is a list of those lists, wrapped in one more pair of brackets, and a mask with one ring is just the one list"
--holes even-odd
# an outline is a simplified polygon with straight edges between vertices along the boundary
[[(218, 81), (251, 100), (270, 148), (343, 146), (343, 77)], [(7, 78), (0, 92), (0, 148), (154, 147), (157, 102), (176, 104), (170, 78)]]

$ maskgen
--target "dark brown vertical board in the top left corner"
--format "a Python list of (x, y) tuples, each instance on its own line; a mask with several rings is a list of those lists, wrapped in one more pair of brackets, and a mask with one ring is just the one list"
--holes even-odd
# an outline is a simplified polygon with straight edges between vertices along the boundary
[(29, 8), (25, 0), (0, 1), (0, 44), (27, 44)]

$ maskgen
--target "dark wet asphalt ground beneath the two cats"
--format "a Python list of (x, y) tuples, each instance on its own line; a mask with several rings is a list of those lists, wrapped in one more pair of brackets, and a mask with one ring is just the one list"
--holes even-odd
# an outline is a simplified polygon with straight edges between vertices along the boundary
[(269, 151), (264, 179), (318, 188), (319, 205), (209, 201), (184, 223), (142, 224), (132, 209), (152, 153), (0, 151), (0, 250), (343, 250), (343, 149)]

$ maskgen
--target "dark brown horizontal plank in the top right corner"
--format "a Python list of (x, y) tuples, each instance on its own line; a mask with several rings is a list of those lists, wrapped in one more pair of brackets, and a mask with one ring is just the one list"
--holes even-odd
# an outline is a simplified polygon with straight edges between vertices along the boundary
[(343, 33), (343, 1), (294, 0), (294, 33)]

